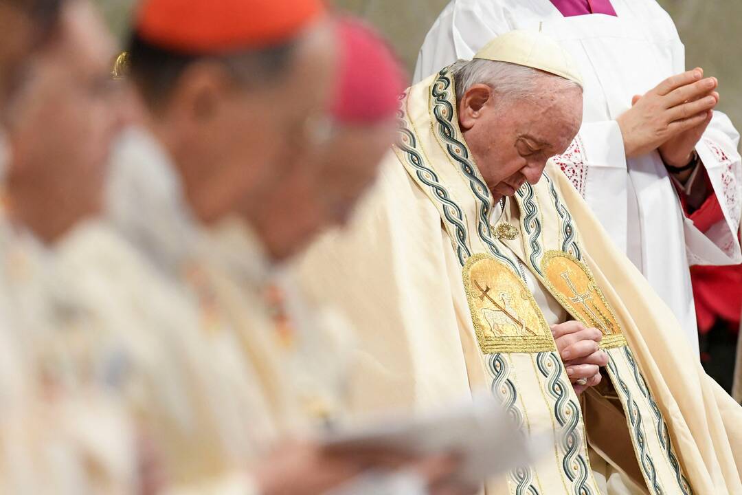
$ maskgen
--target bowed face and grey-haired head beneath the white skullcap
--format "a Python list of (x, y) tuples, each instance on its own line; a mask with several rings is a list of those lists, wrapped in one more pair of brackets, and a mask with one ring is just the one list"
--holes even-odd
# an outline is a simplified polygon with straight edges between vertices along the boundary
[(538, 183), (548, 159), (564, 153), (582, 125), (579, 85), (530, 68), (510, 72), (513, 80), (470, 81), (457, 90), (459, 125), (495, 200)]

